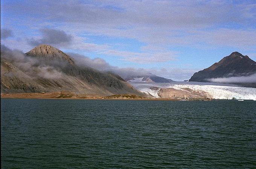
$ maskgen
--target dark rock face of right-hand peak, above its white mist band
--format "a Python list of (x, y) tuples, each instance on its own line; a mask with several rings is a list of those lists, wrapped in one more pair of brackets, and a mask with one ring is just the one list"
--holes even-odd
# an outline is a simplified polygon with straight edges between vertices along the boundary
[(256, 62), (247, 55), (233, 52), (218, 63), (201, 70), (189, 79), (195, 82), (209, 82), (211, 78), (227, 78), (233, 76), (249, 76), (256, 73)]

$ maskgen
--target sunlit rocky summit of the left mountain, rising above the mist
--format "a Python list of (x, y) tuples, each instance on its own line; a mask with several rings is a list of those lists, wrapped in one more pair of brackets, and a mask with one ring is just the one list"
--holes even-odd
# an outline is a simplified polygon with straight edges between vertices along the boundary
[(31, 51), (27, 52), (26, 54), (32, 57), (41, 57), (45, 60), (62, 60), (68, 61), (72, 65), (75, 64), (72, 57), (65, 54), (61, 50), (46, 44), (39, 45), (33, 48)]

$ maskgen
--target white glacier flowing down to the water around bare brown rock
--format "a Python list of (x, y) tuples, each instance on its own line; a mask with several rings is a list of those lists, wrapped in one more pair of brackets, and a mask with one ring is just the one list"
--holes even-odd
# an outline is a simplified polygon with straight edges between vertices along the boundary
[(160, 88), (174, 88), (184, 90), (189, 88), (194, 91), (204, 91), (212, 99), (244, 99), (256, 100), (256, 88), (240, 87), (232, 84), (219, 84), (209, 82), (172, 82), (172, 83), (154, 83), (154, 82), (129, 82), (137, 90), (159, 98)]

